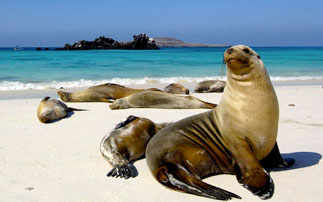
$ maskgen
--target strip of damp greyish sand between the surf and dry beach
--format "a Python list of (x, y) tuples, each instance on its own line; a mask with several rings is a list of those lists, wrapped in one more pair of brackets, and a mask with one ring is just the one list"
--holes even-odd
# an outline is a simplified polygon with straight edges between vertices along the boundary
[[(190, 94), (194, 93), (194, 88), (197, 82), (179, 82), (182, 83), (186, 88), (190, 90)], [(276, 88), (284, 86), (294, 86), (294, 87), (318, 87), (323, 88), (323, 80), (289, 80), (289, 81), (272, 81), (273, 86)], [(151, 84), (131, 84), (125, 85), (131, 88), (159, 88), (163, 90), (170, 83), (151, 83)], [(90, 86), (88, 86), (90, 87)], [(73, 87), (64, 89), (26, 89), (26, 90), (0, 90), (0, 100), (13, 100), (13, 99), (41, 99), (45, 96), (50, 96), (52, 98), (58, 98), (56, 92), (58, 90), (66, 91), (77, 91), (88, 87)]]

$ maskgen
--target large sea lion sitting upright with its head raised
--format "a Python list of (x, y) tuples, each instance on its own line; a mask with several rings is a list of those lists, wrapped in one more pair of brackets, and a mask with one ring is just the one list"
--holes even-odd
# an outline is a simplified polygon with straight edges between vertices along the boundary
[(269, 199), (274, 183), (259, 161), (268, 155), (281, 158), (277, 151), (270, 154), (277, 146), (278, 100), (255, 51), (234, 46), (224, 58), (227, 86), (219, 105), (160, 130), (147, 145), (147, 163), (158, 182), (176, 191), (240, 198), (201, 180), (232, 174), (253, 194)]

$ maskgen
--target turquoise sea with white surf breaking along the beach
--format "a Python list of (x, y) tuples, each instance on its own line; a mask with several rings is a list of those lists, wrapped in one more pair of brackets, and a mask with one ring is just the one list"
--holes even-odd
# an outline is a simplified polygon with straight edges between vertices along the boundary
[[(254, 48), (273, 80), (323, 79), (323, 48)], [(0, 90), (223, 78), (224, 48), (14, 51), (0, 49)]]

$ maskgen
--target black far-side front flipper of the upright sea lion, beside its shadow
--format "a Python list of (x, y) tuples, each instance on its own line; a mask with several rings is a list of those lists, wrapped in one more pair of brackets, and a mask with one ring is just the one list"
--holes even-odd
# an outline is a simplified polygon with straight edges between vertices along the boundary
[(280, 154), (277, 142), (271, 152), (263, 160), (260, 161), (264, 168), (289, 168), (295, 163), (295, 159), (285, 158)]

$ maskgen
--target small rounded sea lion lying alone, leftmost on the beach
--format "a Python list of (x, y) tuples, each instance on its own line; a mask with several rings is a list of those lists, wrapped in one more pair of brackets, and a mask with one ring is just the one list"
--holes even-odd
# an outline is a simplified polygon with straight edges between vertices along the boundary
[(85, 111), (84, 109), (76, 109), (68, 107), (63, 102), (45, 97), (38, 105), (37, 117), (42, 123), (51, 123), (59, 119), (65, 118), (73, 111)]

